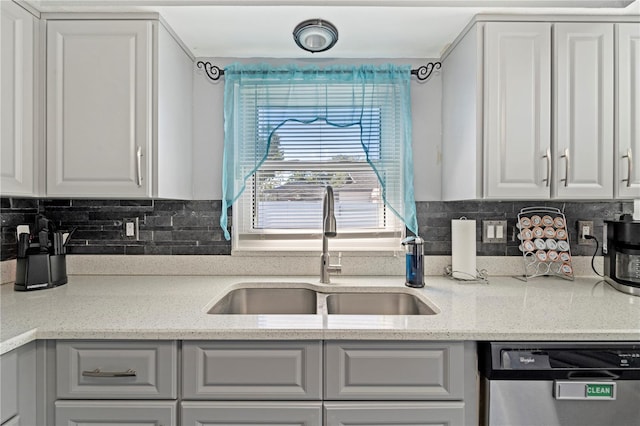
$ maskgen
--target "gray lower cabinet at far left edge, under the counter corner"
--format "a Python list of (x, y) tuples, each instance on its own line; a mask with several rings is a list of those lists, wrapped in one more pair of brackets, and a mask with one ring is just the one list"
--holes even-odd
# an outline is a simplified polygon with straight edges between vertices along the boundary
[(36, 424), (35, 342), (0, 356), (0, 424)]

